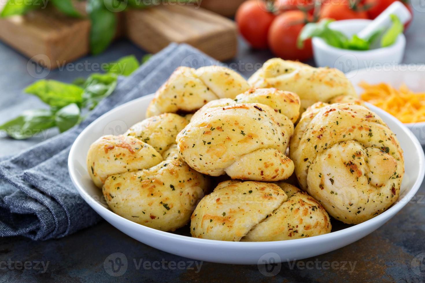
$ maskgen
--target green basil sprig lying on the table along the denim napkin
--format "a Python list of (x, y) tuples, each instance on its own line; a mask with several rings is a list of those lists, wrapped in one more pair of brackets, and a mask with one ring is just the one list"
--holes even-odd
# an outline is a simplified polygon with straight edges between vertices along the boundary
[(45, 79), (36, 81), (26, 87), (25, 92), (40, 98), (50, 109), (26, 110), (17, 118), (0, 125), (0, 130), (17, 140), (53, 127), (65, 132), (81, 122), (82, 112), (93, 109), (115, 90), (119, 75), (129, 76), (139, 65), (136, 57), (130, 55), (108, 63), (106, 73), (93, 73), (87, 79), (77, 79), (73, 84)]

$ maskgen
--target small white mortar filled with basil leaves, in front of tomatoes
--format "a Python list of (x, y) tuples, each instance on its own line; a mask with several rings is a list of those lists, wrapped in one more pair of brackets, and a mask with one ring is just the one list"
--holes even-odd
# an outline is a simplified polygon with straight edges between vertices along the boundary
[[(341, 20), (331, 22), (329, 27), (348, 37), (357, 34), (371, 20)], [(318, 67), (337, 68), (344, 73), (371, 65), (399, 64), (403, 59), (406, 38), (400, 34), (393, 45), (373, 50), (348, 50), (328, 45), (323, 39), (312, 39), (314, 62)]]

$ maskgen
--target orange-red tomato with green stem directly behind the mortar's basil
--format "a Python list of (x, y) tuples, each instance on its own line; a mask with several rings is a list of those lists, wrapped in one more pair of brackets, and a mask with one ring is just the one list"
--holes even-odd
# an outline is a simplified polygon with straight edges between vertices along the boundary
[(322, 4), (320, 19), (330, 18), (335, 20), (368, 19), (368, 13), (363, 5), (352, 5), (352, 0), (331, 0)]

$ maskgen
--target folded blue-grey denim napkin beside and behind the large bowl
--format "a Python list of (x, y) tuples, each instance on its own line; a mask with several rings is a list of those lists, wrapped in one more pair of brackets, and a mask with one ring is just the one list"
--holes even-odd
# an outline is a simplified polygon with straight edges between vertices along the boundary
[(131, 76), (120, 77), (115, 91), (78, 126), (0, 160), (0, 236), (47, 240), (96, 224), (100, 216), (79, 196), (68, 174), (68, 154), (78, 134), (115, 106), (155, 92), (176, 67), (217, 63), (189, 45), (171, 44)]

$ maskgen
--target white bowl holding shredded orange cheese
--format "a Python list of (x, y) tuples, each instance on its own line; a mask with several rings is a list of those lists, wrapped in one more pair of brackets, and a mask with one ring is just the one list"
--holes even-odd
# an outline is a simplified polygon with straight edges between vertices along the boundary
[[(362, 70), (353, 70), (346, 74), (356, 89), (358, 95), (363, 93), (359, 87), (362, 81), (368, 84), (379, 84), (381, 82), (390, 84), (399, 88), (403, 83), (413, 92), (425, 92), (425, 65), (401, 64), (384, 66), (375, 66)], [(419, 140), (419, 143), (425, 145), (425, 122), (404, 123)]]

